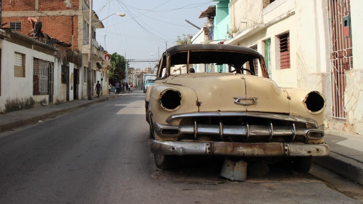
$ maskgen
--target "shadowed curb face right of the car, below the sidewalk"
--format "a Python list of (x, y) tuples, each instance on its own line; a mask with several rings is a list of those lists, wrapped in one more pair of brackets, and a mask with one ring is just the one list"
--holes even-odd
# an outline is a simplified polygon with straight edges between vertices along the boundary
[(363, 163), (335, 152), (330, 152), (328, 157), (315, 157), (313, 162), (335, 174), (363, 185)]

